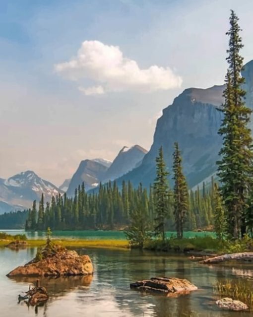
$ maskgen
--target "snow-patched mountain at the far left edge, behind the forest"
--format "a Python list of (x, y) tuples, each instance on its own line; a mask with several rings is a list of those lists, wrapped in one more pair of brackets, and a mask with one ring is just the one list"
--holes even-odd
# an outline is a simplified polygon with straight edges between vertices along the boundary
[(16, 174), (6, 180), (0, 179), (0, 202), (2, 211), (31, 207), (33, 200), (39, 200), (44, 193), (45, 201), (52, 195), (63, 193), (52, 183), (43, 180), (33, 171)]

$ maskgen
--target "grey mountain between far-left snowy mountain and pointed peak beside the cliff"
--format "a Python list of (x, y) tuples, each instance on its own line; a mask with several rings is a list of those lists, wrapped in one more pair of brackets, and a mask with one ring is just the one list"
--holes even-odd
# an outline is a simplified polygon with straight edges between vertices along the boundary
[(86, 190), (90, 190), (99, 185), (105, 177), (107, 167), (94, 160), (81, 161), (79, 167), (71, 178), (69, 187), (66, 191), (68, 196), (73, 196), (75, 189), (84, 182)]

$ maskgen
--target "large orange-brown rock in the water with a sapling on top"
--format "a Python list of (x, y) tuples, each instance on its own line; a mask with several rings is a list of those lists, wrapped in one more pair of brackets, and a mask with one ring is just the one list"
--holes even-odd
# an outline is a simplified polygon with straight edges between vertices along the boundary
[[(39, 259), (38, 259), (39, 257)], [(7, 274), (12, 276), (70, 276), (89, 275), (93, 266), (88, 255), (79, 255), (63, 247), (44, 248), (39, 256)]]

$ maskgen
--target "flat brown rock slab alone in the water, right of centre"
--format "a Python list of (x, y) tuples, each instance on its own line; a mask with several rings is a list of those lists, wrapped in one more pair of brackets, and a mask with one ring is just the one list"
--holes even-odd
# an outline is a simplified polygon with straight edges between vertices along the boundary
[(149, 280), (138, 281), (130, 284), (130, 288), (139, 291), (163, 293), (168, 296), (188, 294), (197, 290), (187, 279), (177, 277), (152, 277)]

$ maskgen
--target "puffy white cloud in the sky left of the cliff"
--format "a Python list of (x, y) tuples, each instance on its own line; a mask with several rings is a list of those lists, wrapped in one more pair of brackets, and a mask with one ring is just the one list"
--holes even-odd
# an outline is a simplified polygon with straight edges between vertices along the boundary
[(182, 84), (182, 78), (171, 68), (152, 65), (140, 69), (137, 62), (123, 56), (118, 46), (99, 41), (84, 41), (77, 56), (69, 62), (56, 64), (55, 70), (70, 80), (88, 78), (100, 84), (79, 87), (86, 95), (115, 91), (153, 92)]

